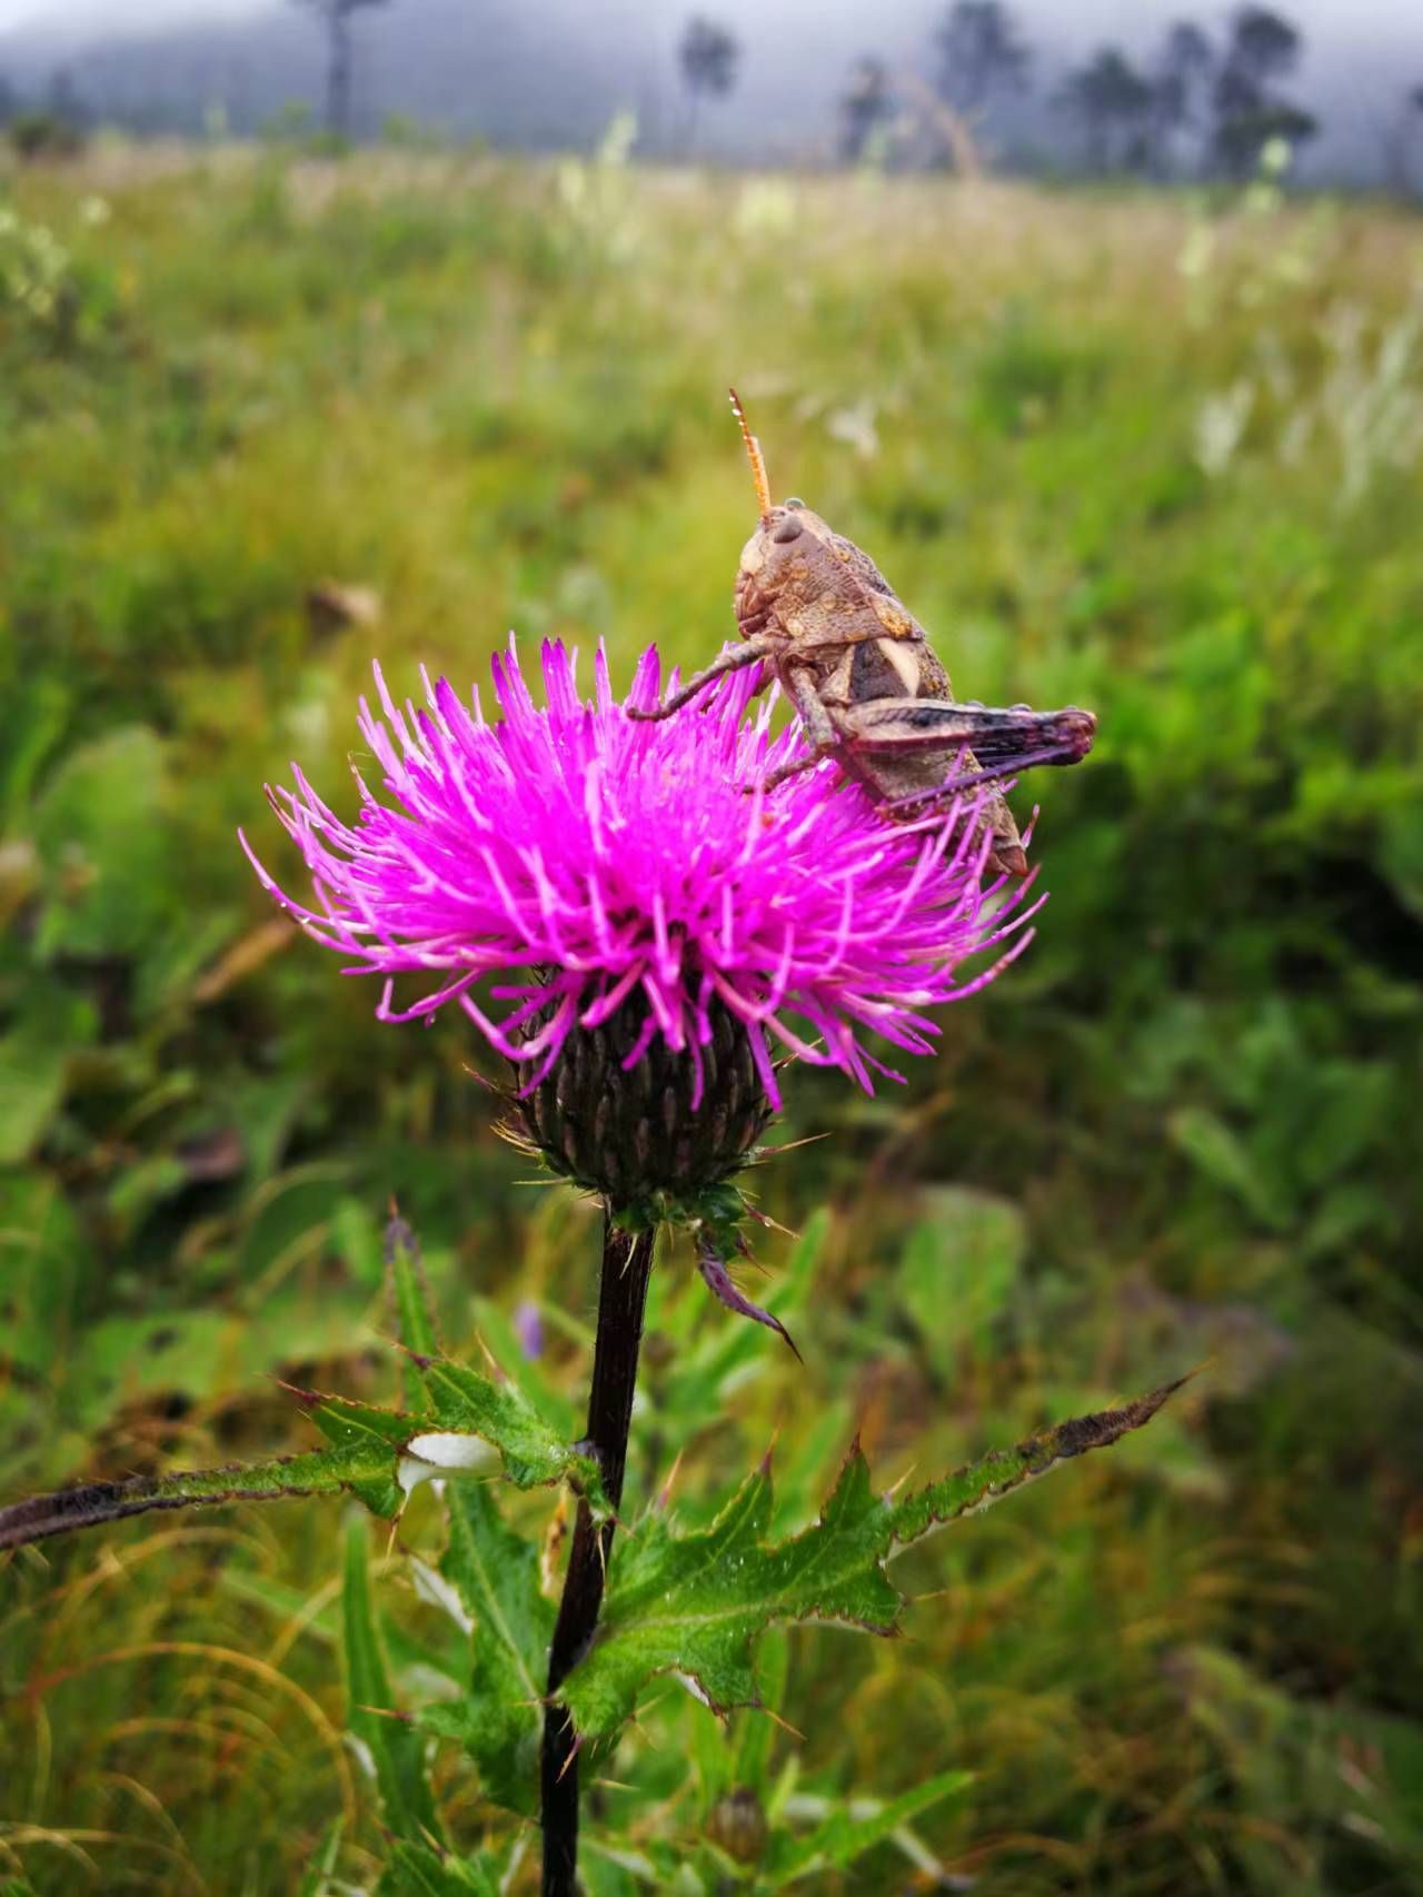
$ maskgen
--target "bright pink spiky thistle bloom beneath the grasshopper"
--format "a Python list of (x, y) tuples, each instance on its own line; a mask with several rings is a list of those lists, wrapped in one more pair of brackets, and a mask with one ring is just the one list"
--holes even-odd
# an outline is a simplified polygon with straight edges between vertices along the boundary
[[(899, 1079), (865, 1045), (933, 1051), (928, 1009), (975, 994), (1028, 943), (1038, 903), (1025, 884), (983, 880), (983, 791), (945, 816), (886, 823), (833, 761), (767, 795), (759, 783), (803, 755), (799, 728), (770, 732), (774, 692), (751, 711), (757, 673), (729, 675), (679, 717), (643, 723), (594, 662), (594, 700), (575, 656), (543, 647), (545, 706), (510, 651), (493, 660), (501, 717), (421, 668), (425, 704), (397, 706), (376, 668), (379, 713), (360, 734), (379, 789), (355, 772), (360, 810), (343, 823), (292, 766), (271, 791), (315, 882), (317, 907), (285, 895), (243, 837), (252, 867), (305, 931), (385, 977), (381, 1021), (455, 1004), (531, 1091), (577, 1028), (632, 1005), (634, 1068), (660, 1038), (693, 1060), (723, 1004), (746, 1026), (780, 1104), (772, 1055), (839, 1066), (867, 1093)], [(626, 706), (658, 702), (649, 649)], [(1002, 899), (998, 899), (1002, 895)], [(996, 950), (964, 977), (970, 956)], [(433, 977), (397, 1007), (395, 977)]]

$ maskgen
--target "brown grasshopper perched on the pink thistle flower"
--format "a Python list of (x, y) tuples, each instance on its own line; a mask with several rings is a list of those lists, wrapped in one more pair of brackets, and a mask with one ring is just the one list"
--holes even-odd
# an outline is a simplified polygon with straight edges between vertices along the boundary
[[(804, 501), (772, 505), (761, 444), (734, 389), (730, 406), (761, 510), (736, 575), (744, 643), (729, 647), (655, 711), (632, 717), (672, 717), (713, 679), (765, 660), (810, 744), (810, 753), (774, 770), (765, 789), (833, 757), (880, 799), (892, 821), (928, 816), (973, 783), (1034, 764), (1076, 764), (1091, 751), (1097, 719), (1076, 706), (1032, 711), (956, 704), (928, 634), (875, 562)], [(983, 821), (992, 833), (989, 867), (1025, 876), (1028, 861), (1002, 793), (989, 793)]]

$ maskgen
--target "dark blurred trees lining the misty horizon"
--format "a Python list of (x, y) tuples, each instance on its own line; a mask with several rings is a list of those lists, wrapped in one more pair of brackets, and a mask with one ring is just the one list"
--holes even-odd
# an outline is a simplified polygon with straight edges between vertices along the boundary
[[(355, 15), (393, 0), (290, 4), (323, 32), (326, 131), (347, 140)], [(1182, 17), (1144, 57), (1102, 42), (1064, 74), (1040, 80), (1042, 55), (1007, 0), (952, 0), (922, 61), (892, 66), (863, 53), (854, 63), (822, 156), (905, 171), (977, 173), (992, 165), (1161, 182), (1241, 180), (1271, 156), (1273, 169), (1284, 169), (1321, 131), (1319, 114), (1290, 89), (1303, 46), (1288, 15), (1241, 4), (1214, 32)], [(738, 34), (704, 13), (687, 19), (675, 51), (685, 112), (670, 146), (694, 157), (708, 110), (734, 93), (748, 57)], [(1032, 148), (1023, 138), (1028, 104), (1038, 108), (1038, 127), (1055, 127), (1045, 152), (1040, 140)], [(66, 68), (30, 101), (0, 72), (0, 123), (9, 121), (21, 150), (68, 150), (95, 118)], [(1402, 85), (1381, 110), (1379, 156), (1395, 190), (1423, 190), (1423, 83)]]

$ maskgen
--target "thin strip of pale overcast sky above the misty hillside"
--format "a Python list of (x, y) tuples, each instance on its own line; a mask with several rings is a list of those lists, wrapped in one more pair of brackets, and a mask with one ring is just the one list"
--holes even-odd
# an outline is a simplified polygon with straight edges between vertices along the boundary
[[(478, 0), (469, 0), (478, 8)], [(529, 8), (548, 6), (562, 11), (569, 0), (529, 0)], [(674, 8), (668, 0), (643, 0), (649, 23), (664, 23)], [(1368, 46), (1370, 42), (1400, 44), (1414, 40), (1423, 63), (1423, 4), (1421, 0), (1277, 0), (1281, 11), (1296, 19), (1307, 32), (1336, 46)], [(93, 32), (95, 27), (148, 27), (178, 21), (241, 17), (271, 11), (273, 0), (0, 0), (0, 30), (19, 25), (63, 27), (66, 32)], [(1180, 13), (1197, 17), (1224, 15), (1224, 0), (1017, 0), (1017, 9), (1038, 27), (1055, 27), (1064, 40), (1085, 40), (1114, 34), (1138, 40), (1144, 32)], [(698, 11), (698, 0), (687, 0), (683, 11)], [(765, 0), (700, 0), (700, 11), (729, 21), (765, 21)], [(852, 21), (865, 15), (863, 0), (776, 0), (776, 19), (784, 27), (814, 30), (825, 15)], [(877, 23), (899, 15), (905, 23), (920, 21), (939, 11), (932, 0), (878, 0), (873, 9)]]

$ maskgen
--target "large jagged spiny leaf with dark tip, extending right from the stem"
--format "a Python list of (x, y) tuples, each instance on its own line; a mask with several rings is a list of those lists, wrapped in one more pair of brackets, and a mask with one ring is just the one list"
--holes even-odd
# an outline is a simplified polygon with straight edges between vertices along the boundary
[(1176, 1389), (1061, 1423), (901, 1502), (875, 1495), (856, 1444), (820, 1521), (778, 1544), (767, 1540), (768, 1466), (746, 1478), (708, 1529), (681, 1535), (664, 1512), (651, 1512), (615, 1546), (598, 1637), (562, 1688), (579, 1732), (586, 1740), (617, 1732), (658, 1673), (687, 1679), (713, 1711), (759, 1704), (753, 1645), (772, 1622), (897, 1631), (903, 1597), (884, 1573), (892, 1546), (1118, 1442)]

